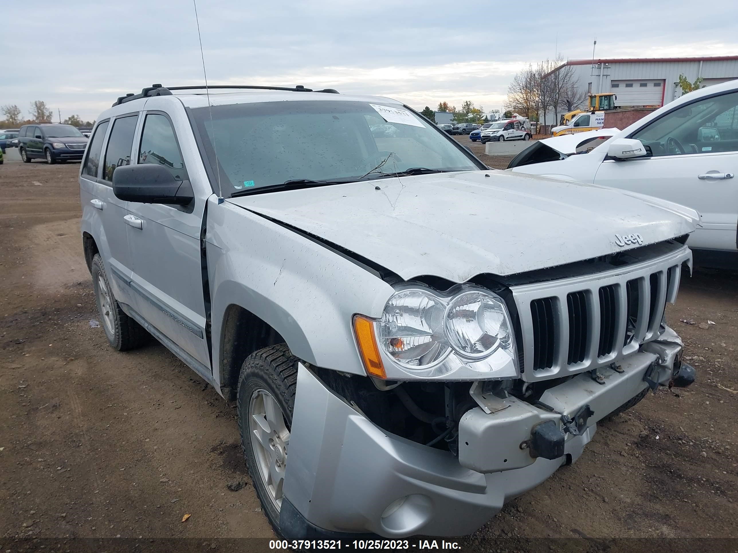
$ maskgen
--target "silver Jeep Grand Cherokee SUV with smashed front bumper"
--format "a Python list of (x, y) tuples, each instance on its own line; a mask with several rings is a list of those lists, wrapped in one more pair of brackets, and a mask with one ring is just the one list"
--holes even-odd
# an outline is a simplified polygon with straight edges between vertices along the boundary
[(696, 212), (489, 170), (395, 100), (154, 85), (80, 192), (108, 340), (238, 399), (286, 538), (469, 534), (694, 380), (663, 311)]

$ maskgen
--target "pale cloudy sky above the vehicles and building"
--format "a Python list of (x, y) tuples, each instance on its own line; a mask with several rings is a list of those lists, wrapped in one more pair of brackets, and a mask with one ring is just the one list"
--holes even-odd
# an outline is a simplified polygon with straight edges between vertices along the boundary
[[(203, 82), (192, 0), (31, 5), (6, 2), (1, 9), (0, 105), (16, 104), (24, 116), (31, 100), (44, 100), (55, 113), (61, 109), (62, 119), (94, 119), (118, 96), (151, 83)], [(595, 5), (603, 15), (587, 15)], [(418, 109), (472, 100), (485, 111), (501, 107), (517, 70), (556, 51), (591, 58), (594, 38), (602, 58), (738, 55), (738, 4), (700, 6), (683, 0), (198, 1), (210, 84), (330, 87)]]

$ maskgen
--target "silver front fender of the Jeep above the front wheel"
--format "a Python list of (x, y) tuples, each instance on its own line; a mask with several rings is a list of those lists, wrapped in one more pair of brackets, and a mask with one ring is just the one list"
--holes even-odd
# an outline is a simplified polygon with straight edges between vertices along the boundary
[(227, 307), (235, 304), (271, 325), (303, 361), (365, 375), (351, 319), (382, 316), (393, 288), (330, 248), (228, 201), (211, 198), (207, 212), (213, 337), (221, 336)]

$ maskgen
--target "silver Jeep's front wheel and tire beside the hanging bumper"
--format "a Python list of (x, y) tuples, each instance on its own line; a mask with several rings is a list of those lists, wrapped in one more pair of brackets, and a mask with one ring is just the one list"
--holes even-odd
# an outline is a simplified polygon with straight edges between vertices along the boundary
[(292, 429), (297, 361), (287, 344), (252, 353), (238, 379), (238, 429), (251, 481), (277, 535)]

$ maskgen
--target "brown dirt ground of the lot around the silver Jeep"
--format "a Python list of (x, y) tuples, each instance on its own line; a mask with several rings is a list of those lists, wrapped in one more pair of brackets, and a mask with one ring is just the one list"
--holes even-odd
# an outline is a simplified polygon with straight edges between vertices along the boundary
[[(11, 156), (0, 166), (0, 552), (139, 536), (223, 551), (230, 542), (217, 538), (273, 537), (250, 484), (226, 487), (247, 480), (233, 406), (156, 342), (122, 354), (91, 326), (79, 165)], [(683, 281), (668, 316), (697, 383), (601, 424), (576, 465), (462, 538), (463, 549), (737, 538), (737, 292), (735, 274)]]

